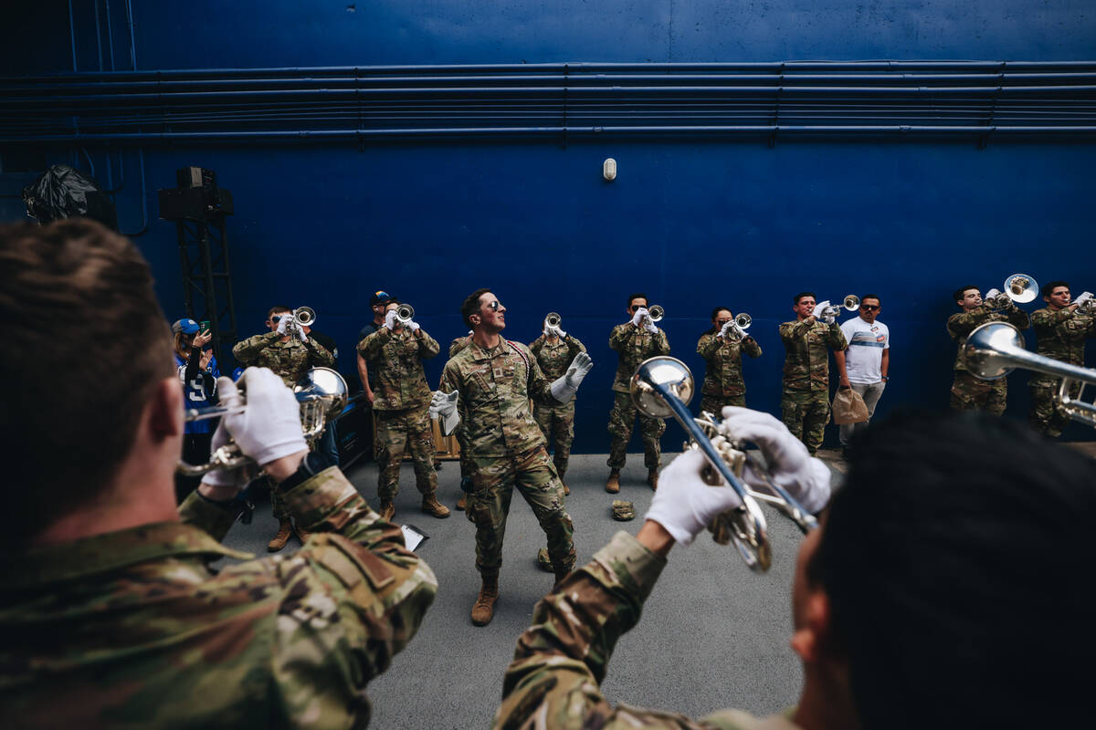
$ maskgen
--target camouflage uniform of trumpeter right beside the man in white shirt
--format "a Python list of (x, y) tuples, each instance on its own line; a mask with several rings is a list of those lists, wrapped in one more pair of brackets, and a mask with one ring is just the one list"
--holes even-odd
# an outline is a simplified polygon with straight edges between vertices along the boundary
[(822, 445), (830, 422), (830, 354), (844, 350), (848, 343), (836, 322), (818, 320), (785, 322), (780, 339), (784, 358), (784, 393), (780, 416), (791, 434), (803, 442), (813, 456)]

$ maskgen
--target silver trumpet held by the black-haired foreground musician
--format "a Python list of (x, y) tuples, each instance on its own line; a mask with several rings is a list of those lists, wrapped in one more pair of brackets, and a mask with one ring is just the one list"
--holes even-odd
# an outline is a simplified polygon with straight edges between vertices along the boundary
[(751, 488), (742, 480), (742, 473), (750, 465), (757, 474), (765, 474), (742, 443), (728, 439), (720, 432), (719, 421), (709, 413), (694, 418), (688, 412), (696, 381), (688, 367), (669, 356), (653, 357), (639, 364), (631, 376), (629, 392), (636, 408), (644, 416), (666, 418), (673, 416), (690, 437), (687, 448), (698, 449), (708, 460), (711, 471), (706, 470), (705, 480), (711, 485), (726, 482), (734, 489), (742, 503), (718, 515), (708, 529), (712, 538), (726, 545), (733, 542), (739, 555), (751, 570), (764, 572), (773, 564), (773, 553), (768, 543), (768, 528), (758, 500), (774, 505), (790, 517), (806, 533), (818, 526), (810, 512), (788, 494), (786, 489), (765, 479), (767, 491)]

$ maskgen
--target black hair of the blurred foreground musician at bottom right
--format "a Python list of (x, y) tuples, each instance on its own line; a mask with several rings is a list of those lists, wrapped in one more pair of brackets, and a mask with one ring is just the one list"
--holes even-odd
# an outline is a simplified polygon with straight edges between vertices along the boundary
[(804, 567), (863, 727), (1087, 725), (1087, 673), (1051, 668), (1096, 652), (1094, 512), (1096, 462), (1018, 421), (906, 413), (858, 433)]

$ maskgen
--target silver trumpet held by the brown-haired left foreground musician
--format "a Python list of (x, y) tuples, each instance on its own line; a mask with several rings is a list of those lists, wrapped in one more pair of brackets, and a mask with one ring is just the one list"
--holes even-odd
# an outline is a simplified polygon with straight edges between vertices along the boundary
[[(240, 385), (240, 394), (247, 397), (242, 382)], [(309, 445), (320, 438), (328, 421), (338, 418), (346, 407), (347, 392), (346, 381), (331, 368), (312, 368), (294, 385), (293, 394), (300, 404), (300, 428)], [(184, 414), (184, 420), (191, 422), (243, 413), (247, 407), (247, 403), (241, 403), (237, 406), (191, 408)], [(205, 464), (189, 464), (180, 459), (175, 471), (186, 476), (201, 476), (215, 468), (235, 468), (247, 464), (254, 464), (254, 460), (244, 455), (233, 441), (229, 441), (214, 451)]]

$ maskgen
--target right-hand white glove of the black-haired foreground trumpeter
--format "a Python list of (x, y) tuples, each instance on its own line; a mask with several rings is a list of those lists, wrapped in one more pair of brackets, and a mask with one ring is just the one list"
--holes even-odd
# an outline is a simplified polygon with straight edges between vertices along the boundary
[[(737, 441), (752, 441), (765, 456), (769, 477), (814, 514), (830, 501), (830, 470), (807, 451), (802, 441), (769, 414), (739, 406), (723, 408), (719, 430)], [(754, 489), (765, 491), (765, 480), (747, 466), (743, 478)], [(661, 485), (660, 485), (661, 486)]]

